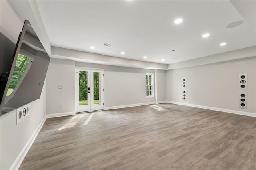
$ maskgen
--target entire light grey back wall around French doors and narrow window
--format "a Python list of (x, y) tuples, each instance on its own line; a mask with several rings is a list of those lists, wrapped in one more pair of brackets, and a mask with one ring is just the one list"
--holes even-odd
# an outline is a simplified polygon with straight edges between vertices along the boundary
[[(106, 109), (155, 102), (155, 97), (146, 98), (145, 80), (146, 73), (154, 73), (154, 70), (75, 63), (72, 60), (52, 58), (46, 75), (46, 115), (51, 117), (75, 113), (75, 66), (104, 69)], [(160, 87), (165, 90), (165, 71), (160, 70), (159, 75)], [(58, 89), (58, 86), (63, 89)], [(159, 95), (160, 99), (165, 100), (162, 91)], [(60, 104), (63, 108), (60, 108)]]

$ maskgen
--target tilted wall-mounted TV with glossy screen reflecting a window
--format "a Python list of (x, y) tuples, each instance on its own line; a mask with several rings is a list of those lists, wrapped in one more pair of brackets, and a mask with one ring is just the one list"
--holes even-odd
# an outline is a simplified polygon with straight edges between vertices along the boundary
[(16, 43), (8, 79), (1, 90), (1, 115), (40, 98), (50, 57), (30, 22), (25, 20)]

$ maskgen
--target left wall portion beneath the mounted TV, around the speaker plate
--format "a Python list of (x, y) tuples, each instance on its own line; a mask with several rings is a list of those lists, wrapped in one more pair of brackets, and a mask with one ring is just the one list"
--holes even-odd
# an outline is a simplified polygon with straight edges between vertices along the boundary
[(30, 115), (16, 125), (16, 110), (0, 117), (1, 121), (1, 170), (10, 169), (30, 137), (45, 120), (46, 85), (40, 99), (30, 103)]

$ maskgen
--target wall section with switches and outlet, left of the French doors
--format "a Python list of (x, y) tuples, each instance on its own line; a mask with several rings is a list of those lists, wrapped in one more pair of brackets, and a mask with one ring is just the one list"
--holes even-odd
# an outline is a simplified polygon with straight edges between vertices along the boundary
[[(46, 114), (74, 114), (75, 61), (51, 58), (46, 82)], [(62, 86), (62, 89), (58, 89), (58, 86)]]

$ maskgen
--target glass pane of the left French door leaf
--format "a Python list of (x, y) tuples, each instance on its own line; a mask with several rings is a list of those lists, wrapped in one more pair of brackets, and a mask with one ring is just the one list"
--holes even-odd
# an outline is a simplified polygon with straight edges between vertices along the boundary
[(88, 72), (79, 71), (79, 105), (88, 105)]

